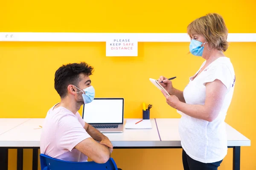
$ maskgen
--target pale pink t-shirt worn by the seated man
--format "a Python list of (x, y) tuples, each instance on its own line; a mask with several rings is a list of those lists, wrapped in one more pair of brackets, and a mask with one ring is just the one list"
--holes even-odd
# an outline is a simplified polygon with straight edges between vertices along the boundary
[[(54, 105), (55, 106), (55, 105)], [(49, 109), (41, 133), (41, 153), (64, 161), (87, 161), (87, 156), (74, 147), (91, 136), (84, 129), (80, 114), (64, 107)]]

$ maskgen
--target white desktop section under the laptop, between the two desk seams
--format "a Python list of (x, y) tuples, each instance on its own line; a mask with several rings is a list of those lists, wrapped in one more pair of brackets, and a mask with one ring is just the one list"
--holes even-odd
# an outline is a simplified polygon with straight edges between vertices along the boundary
[[(44, 119), (30, 119), (0, 135), (0, 147), (40, 147), (41, 128)], [(124, 120), (124, 123), (126, 119)], [(152, 129), (123, 129), (123, 133), (104, 133), (114, 147), (152, 147), (160, 144), (155, 123)], [(158, 142), (158, 143), (157, 143)]]

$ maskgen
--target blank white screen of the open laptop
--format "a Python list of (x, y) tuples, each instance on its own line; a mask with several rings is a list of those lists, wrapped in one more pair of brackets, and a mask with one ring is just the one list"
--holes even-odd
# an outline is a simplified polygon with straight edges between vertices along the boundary
[(84, 105), (83, 119), (89, 124), (123, 123), (123, 98), (95, 98)]

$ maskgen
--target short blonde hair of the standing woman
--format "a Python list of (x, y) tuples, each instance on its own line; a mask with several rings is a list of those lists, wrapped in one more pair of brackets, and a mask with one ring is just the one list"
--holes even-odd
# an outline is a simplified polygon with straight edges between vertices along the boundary
[(211, 48), (226, 51), (228, 47), (228, 30), (220, 14), (209, 13), (192, 21), (187, 27), (187, 33), (203, 35)]

